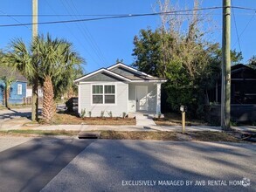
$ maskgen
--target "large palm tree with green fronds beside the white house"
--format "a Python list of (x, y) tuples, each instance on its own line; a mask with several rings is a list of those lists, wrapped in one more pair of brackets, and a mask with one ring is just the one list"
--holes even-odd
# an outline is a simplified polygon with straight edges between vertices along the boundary
[(49, 35), (36, 38), (33, 50), (38, 56), (38, 72), (44, 87), (42, 115), (49, 122), (56, 110), (54, 90), (58, 93), (59, 87), (66, 85), (67, 91), (68, 84), (73, 82), (74, 69), (83, 59), (73, 51), (72, 44), (64, 39), (52, 39)]

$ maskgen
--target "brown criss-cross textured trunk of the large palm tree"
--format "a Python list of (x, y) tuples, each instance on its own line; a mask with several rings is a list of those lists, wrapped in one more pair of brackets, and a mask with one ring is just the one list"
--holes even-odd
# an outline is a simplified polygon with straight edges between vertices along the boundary
[(52, 117), (56, 112), (56, 107), (55, 107), (53, 98), (54, 98), (54, 93), (53, 93), (52, 79), (51, 77), (46, 76), (45, 82), (44, 82), (44, 98), (43, 98), (42, 115), (47, 122), (52, 120)]

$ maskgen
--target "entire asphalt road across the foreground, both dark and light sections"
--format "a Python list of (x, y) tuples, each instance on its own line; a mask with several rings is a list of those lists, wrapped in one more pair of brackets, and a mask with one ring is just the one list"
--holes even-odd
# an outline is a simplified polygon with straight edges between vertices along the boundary
[(1, 192), (256, 191), (251, 143), (0, 137), (0, 144)]

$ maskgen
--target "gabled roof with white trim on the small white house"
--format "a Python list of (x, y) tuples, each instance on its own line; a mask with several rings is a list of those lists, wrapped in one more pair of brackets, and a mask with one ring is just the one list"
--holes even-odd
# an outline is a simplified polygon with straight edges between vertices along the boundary
[(115, 78), (127, 81), (127, 82), (166, 82), (165, 79), (156, 78), (145, 72), (140, 72), (133, 67), (125, 65), (123, 63), (117, 63), (115, 65), (106, 68), (101, 68), (95, 72), (86, 74), (85, 76), (75, 79), (74, 82), (80, 82), (83, 79), (87, 79), (97, 73), (107, 72), (108, 74), (114, 76)]

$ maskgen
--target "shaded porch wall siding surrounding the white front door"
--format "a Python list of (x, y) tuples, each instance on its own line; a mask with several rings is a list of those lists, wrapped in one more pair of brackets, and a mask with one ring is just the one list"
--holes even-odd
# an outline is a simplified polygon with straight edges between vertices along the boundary
[(148, 86), (148, 111), (150, 113), (156, 113), (156, 84), (155, 83), (130, 83), (128, 88), (128, 110), (130, 113), (134, 113), (136, 111), (136, 86)]

